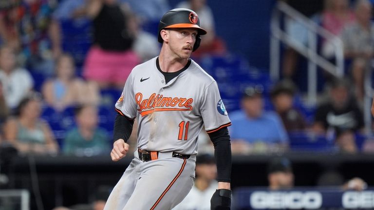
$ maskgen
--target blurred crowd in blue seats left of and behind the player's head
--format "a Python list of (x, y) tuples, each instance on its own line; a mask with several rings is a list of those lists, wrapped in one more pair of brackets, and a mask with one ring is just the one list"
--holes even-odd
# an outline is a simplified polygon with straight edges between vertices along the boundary
[[(178, 6), (195, 10), (209, 31), (194, 57), (223, 55), (206, 0)], [(167, 0), (0, 1), (1, 145), (108, 153), (114, 103), (132, 68), (159, 54), (155, 32), (169, 9)]]

